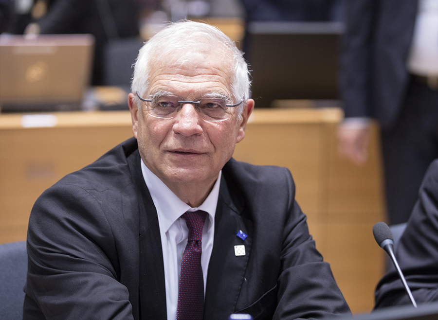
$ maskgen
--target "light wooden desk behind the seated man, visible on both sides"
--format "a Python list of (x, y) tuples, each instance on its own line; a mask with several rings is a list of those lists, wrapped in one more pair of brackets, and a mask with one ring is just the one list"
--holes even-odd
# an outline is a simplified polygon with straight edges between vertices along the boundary
[[(27, 120), (26, 120), (27, 119)], [(383, 220), (379, 146), (356, 167), (338, 157), (337, 108), (256, 109), (234, 157), (288, 167), (310, 233), (353, 312), (370, 311), (384, 269), (372, 226)], [(0, 243), (24, 240), (32, 205), (64, 175), (132, 136), (128, 111), (70, 112), (39, 119), (0, 115)]]

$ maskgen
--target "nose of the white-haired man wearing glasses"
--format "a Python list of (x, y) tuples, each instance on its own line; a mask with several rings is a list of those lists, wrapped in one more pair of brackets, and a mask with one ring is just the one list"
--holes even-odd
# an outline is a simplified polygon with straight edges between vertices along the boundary
[(192, 103), (184, 103), (175, 117), (173, 131), (187, 137), (194, 134), (201, 134), (201, 121), (201, 115), (196, 110), (196, 105)]

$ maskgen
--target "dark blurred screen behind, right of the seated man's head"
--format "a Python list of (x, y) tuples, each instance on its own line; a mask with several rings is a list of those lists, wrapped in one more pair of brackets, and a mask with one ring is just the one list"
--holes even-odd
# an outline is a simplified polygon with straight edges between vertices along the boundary
[(339, 99), (339, 22), (253, 22), (246, 59), (256, 107), (275, 99)]

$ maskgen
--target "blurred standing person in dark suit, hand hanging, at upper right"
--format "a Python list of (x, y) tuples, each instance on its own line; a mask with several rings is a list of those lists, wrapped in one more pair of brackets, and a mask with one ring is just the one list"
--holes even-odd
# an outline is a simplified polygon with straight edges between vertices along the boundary
[(388, 222), (400, 224), (438, 158), (438, 1), (347, 1), (345, 17), (339, 150), (364, 163), (377, 120)]

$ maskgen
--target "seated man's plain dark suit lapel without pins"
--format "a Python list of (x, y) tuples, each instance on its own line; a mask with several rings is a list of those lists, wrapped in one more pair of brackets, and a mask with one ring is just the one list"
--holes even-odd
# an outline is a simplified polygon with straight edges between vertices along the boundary
[(139, 193), (139, 319), (166, 320), (163, 250), (158, 215), (147, 190), (136, 152), (129, 163), (131, 176)]

